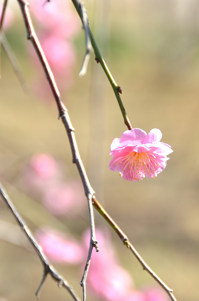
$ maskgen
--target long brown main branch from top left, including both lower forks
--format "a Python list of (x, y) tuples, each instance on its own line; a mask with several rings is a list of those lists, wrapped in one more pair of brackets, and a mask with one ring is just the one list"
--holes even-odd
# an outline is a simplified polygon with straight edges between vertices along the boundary
[[(72, 0), (72, 1), (75, 2), (74, 0)], [(117, 226), (117, 224), (111, 219), (111, 217), (106, 213), (106, 211), (102, 208), (102, 206), (96, 201), (96, 199), (94, 197), (94, 191), (93, 191), (92, 187), (90, 186), (90, 183), (88, 181), (84, 166), (82, 164), (82, 161), (81, 161), (81, 158), (80, 158), (80, 155), (79, 155), (79, 152), (78, 152), (78, 147), (77, 147), (77, 143), (76, 143), (75, 135), (74, 135), (74, 129), (73, 129), (72, 124), (70, 122), (69, 115), (68, 115), (68, 112), (66, 110), (66, 107), (63, 105), (63, 103), (61, 101), (60, 93), (59, 93), (59, 90), (58, 90), (57, 85), (55, 83), (53, 73), (52, 73), (52, 71), (51, 71), (51, 69), (50, 69), (50, 67), (47, 63), (47, 60), (44, 56), (41, 45), (40, 45), (40, 43), (37, 39), (37, 36), (35, 34), (35, 31), (33, 29), (32, 22), (31, 22), (31, 19), (30, 19), (30, 15), (29, 15), (29, 11), (28, 11), (27, 3), (24, 0), (18, 0), (18, 2), (21, 6), (22, 14), (23, 14), (23, 17), (24, 17), (25, 25), (26, 25), (27, 39), (31, 40), (31, 42), (32, 42), (32, 44), (35, 48), (35, 51), (38, 54), (40, 62), (43, 66), (44, 73), (47, 77), (47, 80), (50, 84), (50, 87), (51, 87), (51, 90), (53, 92), (55, 101), (57, 103), (57, 107), (58, 107), (58, 111), (59, 111), (59, 117), (62, 118), (63, 124), (64, 124), (66, 132), (68, 134), (69, 143), (70, 143), (70, 147), (71, 147), (71, 151), (72, 151), (72, 162), (75, 163), (77, 168), (78, 168), (78, 172), (80, 174), (82, 183), (84, 185), (85, 194), (86, 194), (87, 200), (88, 200), (89, 215), (90, 215), (91, 238), (90, 238), (90, 247), (89, 247), (89, 252), (88, 252), (87, 263), (86, 263), (86, 266), (85, 266), (85, 269), (84, 269), (84, 275), (83, 275), (83, 278), (82, 278), (82, 281), (81, 281), (81, 285), (83, 287), (83, 300), (85, 301), (85, 298), (86, 298), (85, 281), (86, 281), (87, 271), (88, 271), (88, 268), (89, 268), (90, 256), (91, 256), (91, 253), (92, 253), (92, 249), (93, 249), (93, 247), (95, 247), (96, 251), (99, 251), (98, 246), (97, 246), (97, 241), (95, 239), (94, 218), (93, 218), (93, 210), (92, 210), (92, 204), (93, 204), (95, 209), (106, 219), (106, 221), (109, 223), (109, 225), (111, 225), (111, 227), (116, 231), (116, 233), (118, 234), (118, 236), (120, 237), (122, 242), (136, 256), (138, 261), (141, 263), (143, 269), (145, 269), (161, 285), (161, 287), (170, 296), (170, 299), (172, 301), (176, 301), (176, 298), (172, 294), (172, 290), (169, 287), (167, 287), (167, 285), (164, 284), (163, 281), (161, 281), (161, 279), (152, 271), (151, 268), (148, 267), (148, 265), (143, 261), (141, 256), (137, 253), (137, 251), (135, 250), (133, 245), (130, 244), (127, 236), (121, 231), (121, 229)], [(117, 88), (118, 88), (118, 86), (117, 86)], [(117, 89), (117, 93), (118, 93), (118, 89)], [(129, 126), (129, 129), (130, 129), (130, 127), (131, 126)], [(41, 285), (42, 284), (43, 284), (43, 281), (41, 281)]]

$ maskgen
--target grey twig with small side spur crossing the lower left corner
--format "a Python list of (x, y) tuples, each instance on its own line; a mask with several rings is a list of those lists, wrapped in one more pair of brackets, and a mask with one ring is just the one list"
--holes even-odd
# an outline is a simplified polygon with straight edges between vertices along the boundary
[(39, 285), (38, 290), (35, 293), (35, 295), (37, 296), (37, 298), (38, 298), (39, 292), (41, 290), (41, 287), (44, 284), (46, 276), (48, 274), (50, 274), (51, 277), (54, 279), (54, 281), (57, 282), (57, 284), (59, 285), (59, 287), (63, 286), (69, 292), (69, 294), (72, 296), (72, 298), (75, 301), (80, 301), (80, 299), (76, 296), (76, 294), (74, 293), (72, 287), (68, 284), (68, 282), (66, 281), (66, 279), (64, 279), (54, 269), (54, 267), (48, 262), (46, 256), (43, 253), (42, 247), (38, 244), (38, 242), (36, 241), (36, 239), (33, 236), (32, 232), (29, 230), (28, 226), (26, 225), (26, 223), (24, 222), (24, 220), (22, 219), (22, 217), (18, 213), (17, 209), (14, 207), (12, 201), (8, 197), (6, 191), (3, 188), (3, 186), (2, 186), (1, 183), (0, 183), (0, 197), (6, 203), (6, 205), (8, 206), (8, 208), (11, 210), (12, 214), (14, 215), (14, 218), (16, 219), (16, 221), (19, 224), (19, 226), (21, 227), (21, 229), (25, 232), (26, 237), (28, 238), (28, 240), (31, 243), (32, 247), (35, 249), (35, 251), (38, 254), (39, 259), (41, 260), (41, 263), (43, 265), (44, 272), (43, 272), (42, 281), (41, 281), (41, 283)]

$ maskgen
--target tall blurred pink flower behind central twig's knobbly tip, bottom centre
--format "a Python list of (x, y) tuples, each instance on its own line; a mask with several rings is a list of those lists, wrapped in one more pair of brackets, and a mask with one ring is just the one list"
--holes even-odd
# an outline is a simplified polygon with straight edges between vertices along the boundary
[[(109, 232), (96, 229), (99, 253), (93, 251), (87, 275), (90, 290), (99, 298), (109, 301), (121, 301), (129, 295), (133, 284), (130, 274), (117, 262), (117, 256), (110, 243)], [(90, 231), (83, 235), (85, 246), (88, 248)], [(138, 300), (138, 301), (141, 301)]]

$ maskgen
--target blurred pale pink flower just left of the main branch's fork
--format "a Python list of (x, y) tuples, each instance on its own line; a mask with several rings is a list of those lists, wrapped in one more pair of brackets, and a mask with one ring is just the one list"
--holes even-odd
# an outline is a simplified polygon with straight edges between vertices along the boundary
[(83, 187), (79, 181), (69, 181), (48, 187), (43, 195), (43, 204), (54, 215), (75, 215), (86, 204)]

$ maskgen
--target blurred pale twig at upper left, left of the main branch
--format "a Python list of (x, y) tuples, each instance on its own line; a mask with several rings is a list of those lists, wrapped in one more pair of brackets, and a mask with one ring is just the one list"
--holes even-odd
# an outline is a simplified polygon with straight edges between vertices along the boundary
[(16, 73), (16, 76), (24, 90), (24, 92), (28, 92), (29, 91), (29, 87), (28, 87), (28, 84), (26, 83), (24, 77), (23, 77), (23, 74), (22, 74), (22, 71), (21, 71), (21, 68), (20, 68), (20, 64), (18, 63), (17, 61), (17, 58), (11, 48), (11, 45), (9, 44), (6, 36), (4, 33), (1, 33), (0, 34), (0, 42), (2, 43), (2, 46), (5, 50), (5, 53), (7, 54), (8, 56), (8, 59), (11, 63), (11, 66), (14, 70), (14, 72)]

